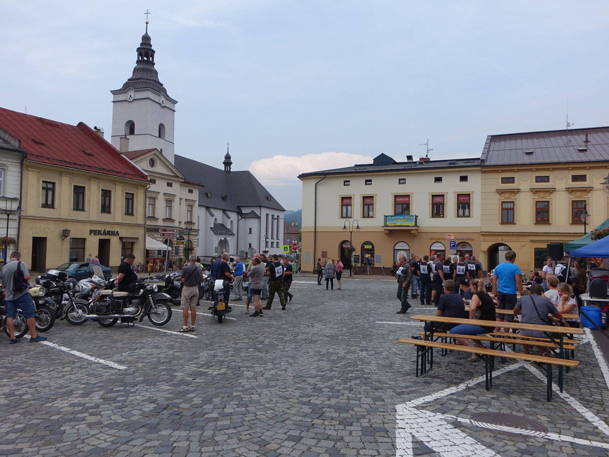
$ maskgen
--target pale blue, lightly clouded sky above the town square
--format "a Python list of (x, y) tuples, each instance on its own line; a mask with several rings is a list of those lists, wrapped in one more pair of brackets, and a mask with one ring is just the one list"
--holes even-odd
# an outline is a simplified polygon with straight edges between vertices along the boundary
[(609, 125), (605, 0), (0, 0), (0, 106), (109, 138), (146, 10), (176, 154), (222, 168), (230, 143), (287, 210), (303, 172)]

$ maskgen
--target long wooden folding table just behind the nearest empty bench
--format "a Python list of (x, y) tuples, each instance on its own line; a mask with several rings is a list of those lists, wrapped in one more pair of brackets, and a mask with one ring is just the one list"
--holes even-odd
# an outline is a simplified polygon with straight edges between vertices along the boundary
[[(422, 314), (416, 314), (415, 316), (411, 316), (410, 319), (413, 321), (432, 321), (432, 322), (441, 322), (446, 324), (469, 324), (475, 322), (476, 325), (481, 325), (481, 327), (496, 327), (497, 321), (482, 321), (476, 319), (473, 321), (472, 319), (461, 319), (458, 317), (443, 317), (443, 316), (424, 316)], [(558, 357), (561, 359), (565, 359), (565, 335), (583, 335), (583, 330), (581, 328), (574, 327), (554, 327), (550, 325), (536, 325), (536, 324), (522, 324), (521, 322), (501, 322), (501, 327), (504, 328), (512, 328), (516, 330), (532, 330), (532, 331), (542, 331), (546, 334), (547, 338), (553, 342), (558, 348)], [(428, 341), (432, 341), (434, 339), (435, 329), (432, 329), (428, 335), (426, 335), (426, 339)], [(558, 335), (558, 336), (556, 336)], [(558, 340), (558, 341), (557, 341)], [(433, 348), (430, 347), (429, 350), (429, 366), (432, 367), (434, 364), (434, 352)], [(560, 391), (563, 391), (563, 365), (558, 365), (558, 386), (560, 387)]]

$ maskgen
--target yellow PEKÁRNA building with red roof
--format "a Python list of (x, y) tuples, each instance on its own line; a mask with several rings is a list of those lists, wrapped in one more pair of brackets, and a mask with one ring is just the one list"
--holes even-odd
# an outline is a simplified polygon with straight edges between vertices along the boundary
[(0, 108), (0, 130), (26, 151), (18, 249), (33, 271), (89, 253), (105, 266), (144, 257), (146, 175), (82, 122)]

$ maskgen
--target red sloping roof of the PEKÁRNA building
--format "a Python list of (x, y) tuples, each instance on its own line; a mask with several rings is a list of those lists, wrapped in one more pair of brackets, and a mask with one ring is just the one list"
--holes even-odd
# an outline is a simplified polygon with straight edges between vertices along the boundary
[(0, 129), (21, 141), (28, 161), (148, 181), (143, 172), (83, 122), (71, 126), (0, 108)]

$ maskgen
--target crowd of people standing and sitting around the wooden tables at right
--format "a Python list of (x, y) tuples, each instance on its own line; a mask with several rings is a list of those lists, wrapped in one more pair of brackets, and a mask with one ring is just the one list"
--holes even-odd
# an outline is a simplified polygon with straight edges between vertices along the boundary
[[(417, 290), (420, 290), (421, 305), (437, 303), (436, 316), (471, 319), (472, 322), (448, 324), (429, 321), (425, 324), (426, 331), (437, 329), (455, 335), (482, 335), (501, 331), (501, 322), (513, 322), (516, 316), (523, 324), (580, 327), (581, 302), (578, 300), (588, 285), (588, 275), (581, 267), (582, 260), (575, 260), (569, 266), (569, 258), (565, 257), (552, 267), (552, 259), (547, 258), (541, 274), (532, 272), (530, 282), (523, 287), (516, 252), (508, 250), (505, 261), (496, 266), (491, 274), (491, 291), (488, 292), (482, 265), (475, 257), (447, 260), (443, 260), (442, 255), (435, 256), (435, 259), (433, 257), (424, 256), (421, 261), (413, 254), (407, 262), (406, 256), (400, 256), (396, 278), (401, 308), (397, 313), (407, 313), (411, 307), (409, 291), (410, 298), (415, 299)], [(588, 269), (596, 267), (593, 262), (586, 262), (586, 265)], [(494, 321), (495, 325), (478, 325), (476, 320)], [(547, 338), (544, 331), (521, 330), (520, 333), (523, 336)], [(421, 337), (414, 335), (413, 338)], [(484, 347), (481, 341), (463, 337), (457, 338), (456, 344)], [(529, 346), (525, 345), (524, 352), (529, 353), (529, 350)], [(538, 355), (546, 353), (546, 348), (538, 348)], [(474, 354), (468, 360), (476, 361), (478, 358)]]

